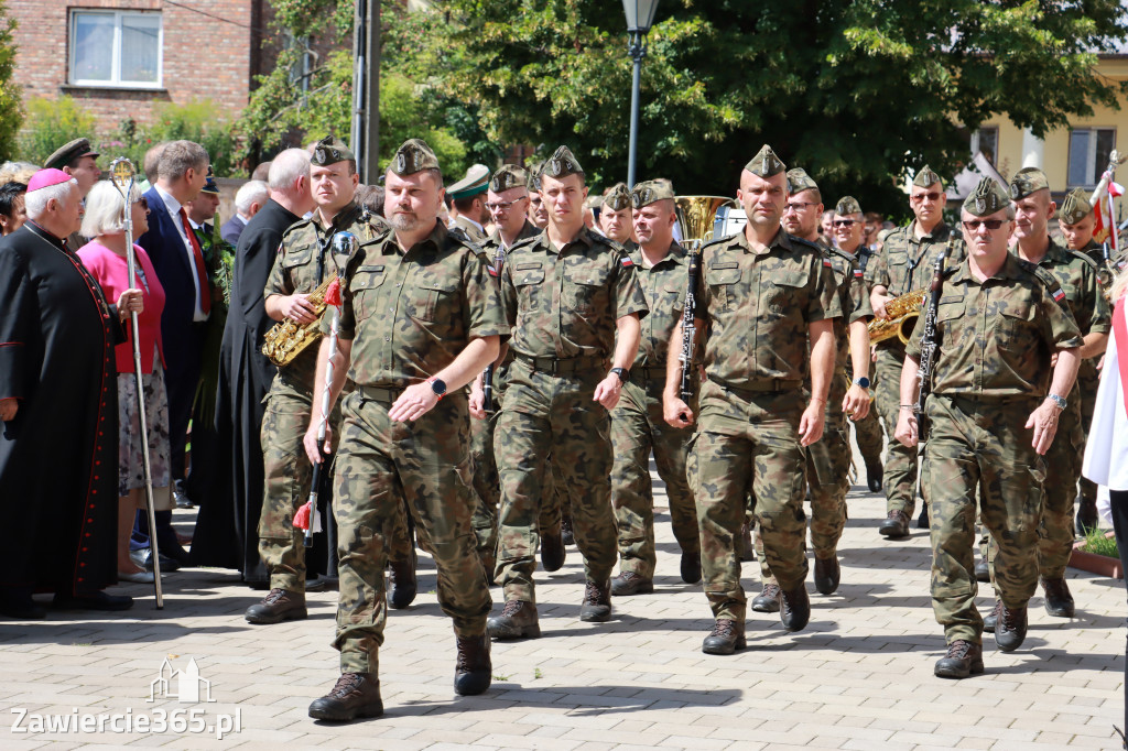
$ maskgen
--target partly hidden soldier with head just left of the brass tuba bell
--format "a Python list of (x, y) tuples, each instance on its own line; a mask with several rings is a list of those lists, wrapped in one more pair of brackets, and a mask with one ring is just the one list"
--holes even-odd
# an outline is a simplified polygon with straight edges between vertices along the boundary
[(632, 194), (634, 227), (641, 241), (631, 251), (638, 283), (650, 312), (642, 321), (642, 341), (631, 380), (623, 385), (619, 404), (611, 413), (611, 505), (618, 530), (620, 573), (611, 580), (615, 595), (654, 591), (654, 496), (650, 480), (650, 454), (654, 453), (659, 477), (666, 483), (673, 537), (681, 548), (681, 580), (696, 584), (702, 577), (697, 511), (686, 479), (690, 432), (672, 427), (662, 418), (662, 388), (670, 333), (678, 323), (676, 308), (686, 294), (688, 259), (673, 240), (677, 221), (669, 183), (647, 182)]

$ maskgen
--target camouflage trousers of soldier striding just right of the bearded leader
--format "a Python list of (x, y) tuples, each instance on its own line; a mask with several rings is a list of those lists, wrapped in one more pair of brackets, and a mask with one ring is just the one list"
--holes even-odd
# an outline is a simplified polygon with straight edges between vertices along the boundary
[[(506, 600), (536, 602), (532, 572), (549, 465), (572, 501), (575, 540), (592, 582), (615, 567), (610, 416), (592, 400), (606, 370), (552, 374), (518, 360), (510, 368), (494, 453), (501, 475), (497, 577)], [(547, 461), (548, 457), (552, 461)]]

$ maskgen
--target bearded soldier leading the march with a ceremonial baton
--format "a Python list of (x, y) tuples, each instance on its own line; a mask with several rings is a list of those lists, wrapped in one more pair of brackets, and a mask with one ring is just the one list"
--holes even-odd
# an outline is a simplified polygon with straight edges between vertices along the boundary
[[(475, 498), (462, 387), (496, 359), (508, 326), (486, 263), (461, 233), (437, 221), (442, 174), (426, 143), (412, 139), (400, 145), (385, 179), (393, 231), (362, 246), (343, 274), (338, 366), (329, 396), (336, 396), (350, 364), (356, 389), (342, 405), (334, 478), (341, 558), (334, 646), (342, 674), (310, 705), (310, 716), (319, 719), (384, 712), (378, 674), (387, 619), (384, 567), (389, 520), (405, 501), (434, 556), (439, 604), (453, 619), (455, 691), (477, 695), (491, 682), (490, 589), (470, 527)], [(319, 376), (327, 341), (321, 355)], [(323, 381), (317, 382), (320, 392)], [(306, 451), (318, 460), (315, 421)]]

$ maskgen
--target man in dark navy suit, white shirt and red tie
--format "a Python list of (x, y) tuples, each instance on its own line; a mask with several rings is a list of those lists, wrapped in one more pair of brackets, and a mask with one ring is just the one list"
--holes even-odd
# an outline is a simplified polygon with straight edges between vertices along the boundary
[[(160, 333), (165, 342), (171, 476), (176, 481), (184, 479), (188, 419), (200, 380), (201, 352), (212, 306), (208, 268), (200, 242), (192, 231), (186, 204), (204, 186), (209, 161), (208, 152), (199, 143), (171, 141), (166, 144), (157, 166), (157, 183), (144, 193), (150, 209), (149, 231), (136, 240), (152, 259), (166, 294)], [(168, 515), (167, 521), (161, 519), (162, 514)], [(161, 551), (174, 558), (186, 557), (179, 545), (175, 545), (175, 534), (166, 542), (171, 531), (167, 527), (170, 521), (171, 512), (158, 513)]]

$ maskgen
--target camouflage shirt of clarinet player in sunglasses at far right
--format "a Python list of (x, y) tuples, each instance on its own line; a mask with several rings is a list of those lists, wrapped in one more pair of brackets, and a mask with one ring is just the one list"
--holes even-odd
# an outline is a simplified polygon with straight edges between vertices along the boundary
[[(936, 311), (932, 391), (987, 400), (1040, 399), (1049, 391), (1057, 350), (1079, 347), (1081, 332), (1052, 274), (1007, 254), (979, 282), (964, 260), (944, 280)], [(906, 348), (920, 357), (924, 326)]]

